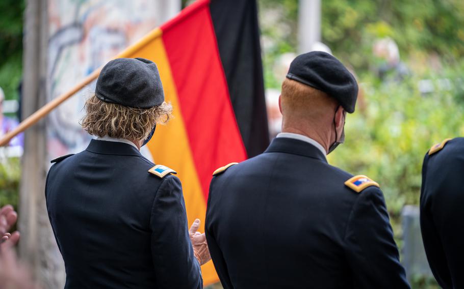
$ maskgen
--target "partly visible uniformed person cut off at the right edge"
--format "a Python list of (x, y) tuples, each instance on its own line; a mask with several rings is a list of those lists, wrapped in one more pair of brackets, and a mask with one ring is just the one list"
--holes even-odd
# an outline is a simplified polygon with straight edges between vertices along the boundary
[(464, 288), (464, 138), (445, 139), (422, 166), (421, 230), (433, 276), (444, 289)]

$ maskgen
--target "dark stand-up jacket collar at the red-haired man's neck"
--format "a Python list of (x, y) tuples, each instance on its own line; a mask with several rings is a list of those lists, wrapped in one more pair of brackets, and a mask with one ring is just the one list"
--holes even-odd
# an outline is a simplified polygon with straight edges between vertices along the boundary
[(325, 154), (312, 143), (289, 137), (274, 138), (265, 153), (287, 153), (327, 162)]

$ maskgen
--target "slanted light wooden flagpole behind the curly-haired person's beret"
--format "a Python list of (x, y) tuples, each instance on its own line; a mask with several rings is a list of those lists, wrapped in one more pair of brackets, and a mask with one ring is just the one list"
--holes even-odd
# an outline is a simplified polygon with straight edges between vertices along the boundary
[[(135, 44), (127, 47), (124, 49), (121, 53), (119, 53), (116, 58), (121, 58), (121, 57), (127, 57), (128, 55), (133, 54), (135, 51), (139, 50), (141, 47), (146, 45), (148, 42), (153, 40), (154, 38), (160, 37), (162, 35), (161, 29), (155, 28), (152, 30), (150, 33), (145, 35), (142, 39), (137, 41)], [(101, 68), (98, 68), (94, 70), (91, 74), (89, 74), (86, 78), (84, 78), (81, 82), (78, 84), (74, 85), (74, 87), (69, 90), (68, 92), (60, 95), (59, 97), (51, 100), (44, 106), (42, 106), (39, 110), (31, 114), (27, 119), (23, 120), (17, 127), (15, 127), (13, 130), (9, 131), (6, 133), (2, 139), (0, 139), (0, 147), (7, 146), (10, 140), (15, 137), (17, 134), (27, 130), (34, 124), (36, 124), (38, 121), (40, 121), (45, 115), (50, 113), (50, 111), (54, 110), (56, 107), (58, 107), (60, 104), (62, 104), (65, 100), (73, 96), (76, 92), (80, 91), (81, 89), (84, 88), (87, 84), (95, 80), (98, 75), (100, 74)]]

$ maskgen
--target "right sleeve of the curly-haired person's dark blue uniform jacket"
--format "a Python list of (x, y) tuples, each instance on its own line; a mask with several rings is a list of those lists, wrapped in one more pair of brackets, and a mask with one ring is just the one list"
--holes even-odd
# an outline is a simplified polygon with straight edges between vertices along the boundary
[(166, 177), (153, 201), (151, 254), (158, 288), (202, 288), (200, 265), (193, 255), (182, 185)]

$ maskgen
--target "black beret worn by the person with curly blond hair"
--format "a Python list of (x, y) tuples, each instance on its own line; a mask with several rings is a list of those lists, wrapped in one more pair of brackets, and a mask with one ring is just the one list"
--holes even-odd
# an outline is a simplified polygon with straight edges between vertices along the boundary
[(100, 100), (135, 108), (164, 102), (158, 67), (143, 58), (118, 58), (107, 63), (98, 76), (95, 96)]

